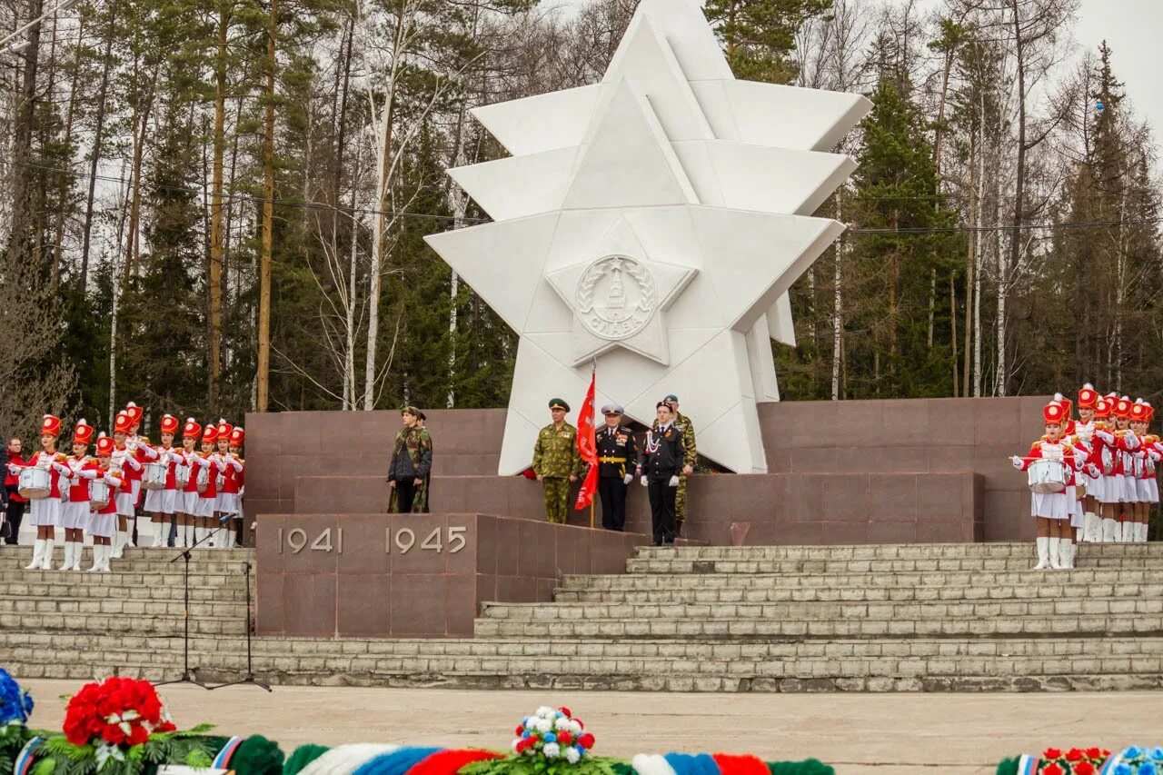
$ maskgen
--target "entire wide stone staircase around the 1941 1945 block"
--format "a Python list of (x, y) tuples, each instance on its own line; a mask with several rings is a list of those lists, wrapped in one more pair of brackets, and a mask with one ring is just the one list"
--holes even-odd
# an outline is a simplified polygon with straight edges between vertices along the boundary
[[(491, 603), (461, 640), (254, 642), (277, 684), (656, 691), (1033, 691), (1163, 685), (1163, 543), (1084, 546), (1032, 571), (1029, 543), (642, 548), (566, 576), (554, 603)], [(59, 550), (57, 552), (59, 561)], [(183, 667), (181, 563), (127, 549), (113, 574), (26, 571), (0, 550), (0, 667), (163, 680)], [(190, 663), (245, 670), (243, 549), (195, 552)]]

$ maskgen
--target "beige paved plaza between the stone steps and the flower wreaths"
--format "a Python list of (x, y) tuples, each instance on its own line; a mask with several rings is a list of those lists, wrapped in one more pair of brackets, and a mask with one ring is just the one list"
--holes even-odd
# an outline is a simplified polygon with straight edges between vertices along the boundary
[[(22, 682), (34, 725), (59, 728), (73, 681)], [(162, 695), (179, 726), (262, 733), (291, 752), (302, 742), (508, 745), (513, 725), (541, 704), (569, 705), (598, 752), (750, 752), (815, 756), (840, 775), (989, 775), (1003, 756), (1046, 745), (1118, 748), (1163, 740), (1163, 692), (682, 695), (254, 687)], [(940, 768), (940, 769), (939, 769)]]

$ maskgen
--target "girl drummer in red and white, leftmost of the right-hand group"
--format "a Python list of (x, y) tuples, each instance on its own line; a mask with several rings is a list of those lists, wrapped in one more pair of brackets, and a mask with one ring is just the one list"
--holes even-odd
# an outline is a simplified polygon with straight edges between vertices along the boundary
[[(1057, 401), (1050, 401), (1042, 410), (1046, 435), (1029, 448), (1025, 457), (1014, 456), (1013, 464), (1020, 471), (1036, 460), (1062, 461), (1066, 469), (1077, 471), (1083, 455), (1075, 455), (1075, 448), (1062, 436), (1066, 411)], [(1037, 520), (1037, 564), (1035, 570), (1047, 568), (1070, 568), (1073, 560), (1070, 529), (1070, 495), (1066, 492), (1030, 493), (1030, 513)]]

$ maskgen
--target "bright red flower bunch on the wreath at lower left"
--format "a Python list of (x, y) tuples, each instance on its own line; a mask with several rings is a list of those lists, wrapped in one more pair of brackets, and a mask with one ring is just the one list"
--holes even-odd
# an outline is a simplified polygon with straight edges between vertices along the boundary
[(148, 681), (113, 677), (86, 683), (65, 709), (65, 737), (76, 746), (94, 741), (137, 746), (152, 732), (176, 728)]

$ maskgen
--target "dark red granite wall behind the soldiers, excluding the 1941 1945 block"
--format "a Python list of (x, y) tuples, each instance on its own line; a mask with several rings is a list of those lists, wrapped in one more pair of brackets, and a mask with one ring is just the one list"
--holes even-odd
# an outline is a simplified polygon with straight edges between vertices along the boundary
[[(1044, 401), (765, 404), (770, 474), (694, 477), (687, 535), (752, 545), (1028, 538), (1028, 491), (1006, 456), (1040, 435)], [(495, 476), (505, 410), (428, 415), (434, 509), (541, 519), (536, 483)], [(395, 412), (248, 415), (248, 513), (381, 512), (399, 422)], [(629, 512), (628, 528), (648, 532), (645, 493), (636, 484)], [(588, 513), (571, 524), (588, 524)]]

